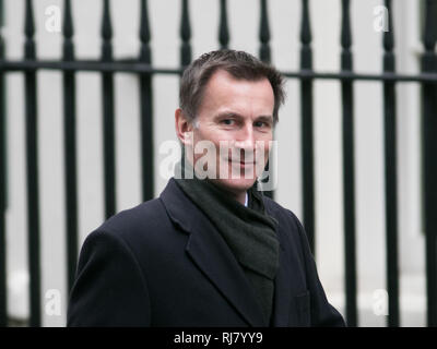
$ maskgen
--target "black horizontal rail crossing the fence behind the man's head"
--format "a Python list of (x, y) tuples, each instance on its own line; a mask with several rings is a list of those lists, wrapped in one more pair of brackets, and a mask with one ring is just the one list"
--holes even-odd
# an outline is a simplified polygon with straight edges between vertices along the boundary
[[(95, 72), (126, 72), (126, 73), (150, 73), (150, 74), (180, 74), (181, 68), (154, 68), (147, 63), (137, 60), (117, 60), (102, 62), (99, 60), (76, 60), (76, 61), (50, 61), (50, 60), (21, 60), (0, 61), (0, 71), (32, 71), (38, 69), (60, 71), (95, 71)], [(429, 82), (437, 83), (437, 73), (399, 74), (377, 73), (362, 74), (354, 72), (315, 72), (300, 70), (295, 72), (282, 72), (286, 77), (314, 79), (314, 80), (341, 80), (341, 81), (392, 81), (392, 82)]]

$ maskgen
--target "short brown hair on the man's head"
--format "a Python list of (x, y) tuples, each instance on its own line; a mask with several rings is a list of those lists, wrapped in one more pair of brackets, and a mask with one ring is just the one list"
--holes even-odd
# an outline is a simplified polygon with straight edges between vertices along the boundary
[(203, 53), (184, 71), (179, 106), (190, 122), (197, 117), (208, 82), (218, 70), (226, 71), (237, 80), (268, 79), (274, 95), (273, 123), (277, 122), (277, 112), (285, 99), (284, 79), (281, 73), (247, 52), (228, 49)]

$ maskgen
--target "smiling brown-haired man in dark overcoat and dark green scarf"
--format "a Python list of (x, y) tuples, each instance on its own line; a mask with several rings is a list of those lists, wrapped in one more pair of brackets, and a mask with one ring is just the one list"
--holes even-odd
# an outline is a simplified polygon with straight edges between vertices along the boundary
[(186, 69), (181, 176), (87, 237), (69, 326), (344, 326), (298, 219), (258, 191), (283, 99), (280, 73), (246, 52)]

